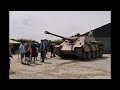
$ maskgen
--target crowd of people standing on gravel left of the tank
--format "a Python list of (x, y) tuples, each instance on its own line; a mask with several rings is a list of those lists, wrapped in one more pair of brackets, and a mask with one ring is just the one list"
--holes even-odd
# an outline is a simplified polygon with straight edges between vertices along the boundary
[[(48, 48), (50, 49), (51, 55), (50, 57), (55, 57), (54, 53), (55, 44), (51, 43), (50, 45), (47, 44), (44, 40), (41, 40), (41, 43), (36, 43), (35, 41), (32, 42), (21, 42), (19, 49), (18, 49), (18, 60), (20, 55), (21, 64), (30, 65), (31, 62), (36, 62), (39, 60), (38, 53), (40, 52), (40, 60), (44, 63), (44, 59), (47, 59), (47, 52)], [(11, 52), (9, 51), (9, 57), (11, 56)], [(10, 59), (9, 59), (10, 60)], [(9, 63), (10, 67), (10, 63)], [(10, 69), (10, 68), (9, 68)]]

